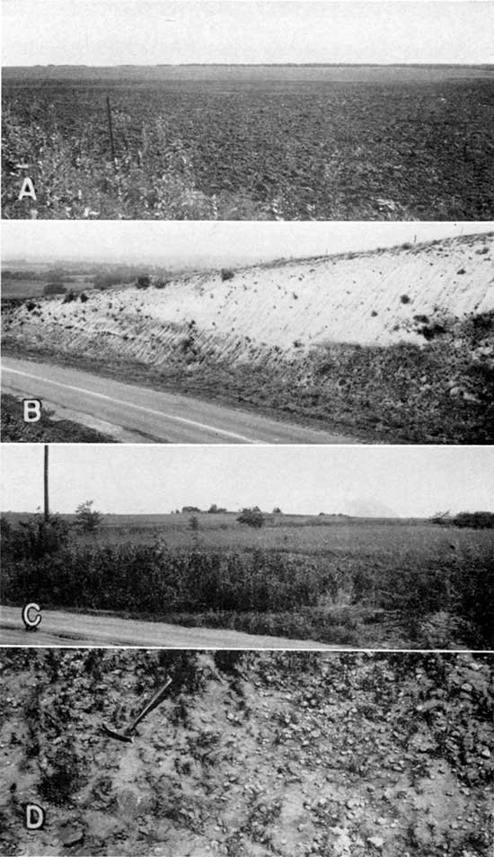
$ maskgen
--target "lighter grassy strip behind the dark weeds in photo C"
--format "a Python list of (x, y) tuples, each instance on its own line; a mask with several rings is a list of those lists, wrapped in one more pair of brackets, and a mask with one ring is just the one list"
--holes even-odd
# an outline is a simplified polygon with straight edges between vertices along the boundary
[[(64, 516), (74, 522), (74, 516)], [(190, 526), (192, 517), (198, 530)], [(184, 512), (164, 515), (107, 515), (93, 534), (77, 532), (80, 544), (117, 545), (128, 541), (151, 544), (164, 539), (171, 548), (198, 544), (212, 551), (278, 550), (303, 555), (349, 556), (356, 559), (399, 556), (410, 561), (441, 561), (452, 549), (467, 549), (472, 543), (490, 544), (489, 530), (472, 531), (437, 526), (422, 519), (357, 518), (331, 514), (265, 514), (259, 530), (239, 524), (238, 513)], [(13, 520), (16, 516), (13, 516)]]

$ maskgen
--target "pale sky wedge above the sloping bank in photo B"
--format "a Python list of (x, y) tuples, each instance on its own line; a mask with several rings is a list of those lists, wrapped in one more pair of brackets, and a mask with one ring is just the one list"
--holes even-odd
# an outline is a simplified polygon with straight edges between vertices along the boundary
[(133, 261), (217, 268), (367, 250), (449, 235), (490, 232), (492, 223), (235, 223), (207, 221), (4, 220), (2, 258)]

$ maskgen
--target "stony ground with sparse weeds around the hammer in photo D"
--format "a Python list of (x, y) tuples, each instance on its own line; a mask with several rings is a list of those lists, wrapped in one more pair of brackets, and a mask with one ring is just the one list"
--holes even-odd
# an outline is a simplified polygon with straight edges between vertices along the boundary
[[(133, 744), (101, 733), (167, 674)], [(490, 656), (4, 649), (3, 676), (4, 854), (490, 853)]]

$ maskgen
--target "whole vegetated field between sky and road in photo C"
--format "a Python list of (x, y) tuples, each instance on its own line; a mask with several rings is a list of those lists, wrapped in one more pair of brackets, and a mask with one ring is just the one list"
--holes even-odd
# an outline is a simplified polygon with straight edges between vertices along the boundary
[(32, 524), (26, 548), (20, 517), (5, 520), (10, 604), (36, 597), (357, 647), (494, 644), (491, 530), (283, 515), (254, 530), (233, 513), (186, 513), (107, 517), (93, 534), (71, 527), (55, 548)]

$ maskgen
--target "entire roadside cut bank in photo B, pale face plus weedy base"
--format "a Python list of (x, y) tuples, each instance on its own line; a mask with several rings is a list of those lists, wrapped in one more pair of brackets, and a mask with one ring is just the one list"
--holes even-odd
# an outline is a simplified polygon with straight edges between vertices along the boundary
[(492, 440), (494, 239), (280, 261), (4, 310), (4, 348), (383, 440)]

